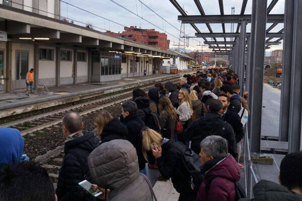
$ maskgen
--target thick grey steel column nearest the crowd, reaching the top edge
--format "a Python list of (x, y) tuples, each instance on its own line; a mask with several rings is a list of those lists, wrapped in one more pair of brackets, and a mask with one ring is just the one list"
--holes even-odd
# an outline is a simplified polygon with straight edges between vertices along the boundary
[[(253, 51), (253, 91), (251, 103), (251, 152), (260, 153), (261, 141), (261, 111), (263, 92), (263, 64), (265, 53), (265, 26), (267, 0), (255, 0), (255, 38)], [(253, 33), (252, 33), (253, 34)]]

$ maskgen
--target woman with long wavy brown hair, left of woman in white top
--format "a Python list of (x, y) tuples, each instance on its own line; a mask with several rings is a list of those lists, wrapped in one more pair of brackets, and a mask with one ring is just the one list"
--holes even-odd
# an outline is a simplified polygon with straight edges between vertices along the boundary
[(164, 138), (177, 140), (175, 135), (176, 111), (168, 97), (159, 100), (161, 134)]

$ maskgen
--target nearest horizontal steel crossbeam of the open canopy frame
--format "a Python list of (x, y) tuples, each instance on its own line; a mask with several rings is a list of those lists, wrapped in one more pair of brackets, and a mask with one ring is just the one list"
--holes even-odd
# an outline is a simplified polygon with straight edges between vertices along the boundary
[[(283, 14), (274, 14), (267, 16), (267, 23), (283, 23)], [(251, 22), (251, 15), (190, 15), (190, 16), (178, 16), (178, 20), (181, 20), (184, 24), (190, 23), (240, 23), (242, 20)]]

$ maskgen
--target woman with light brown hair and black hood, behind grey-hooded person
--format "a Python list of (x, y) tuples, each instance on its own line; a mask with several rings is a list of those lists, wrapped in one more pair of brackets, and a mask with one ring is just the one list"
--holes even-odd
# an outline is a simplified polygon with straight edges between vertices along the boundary
[(102, 141), (101, 144), (112, 140), (124, 140), (128, 135), (127, 127), (118, 119), (102, 110), (94, 119), (97, 130), (97, 137)]

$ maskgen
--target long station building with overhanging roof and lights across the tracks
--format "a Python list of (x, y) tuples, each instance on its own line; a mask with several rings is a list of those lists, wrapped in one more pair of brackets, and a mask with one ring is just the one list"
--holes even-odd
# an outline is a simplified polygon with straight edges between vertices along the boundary
[(0, 0), (0, 92), (26, 88), (30, 69), (35, 87), (60, 86), (158, 74), (177, 56), (60, 20), (57, 0), (10, 2)]

